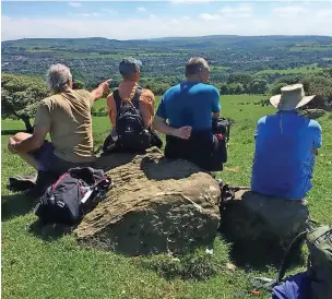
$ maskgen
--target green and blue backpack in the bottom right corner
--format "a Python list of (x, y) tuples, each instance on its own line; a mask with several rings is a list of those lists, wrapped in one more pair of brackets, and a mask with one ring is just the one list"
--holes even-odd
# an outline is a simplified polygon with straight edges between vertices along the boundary
[[(306, 272), (287, 277), (286, 270), (294, 249), (306, 240), (309, 260)], [(259, 288), (272, 289), (271, 299), (328, 299), (332, 298), (332, 226), (308, 227), (292, 242), (276, 279), (265, 278)]]

